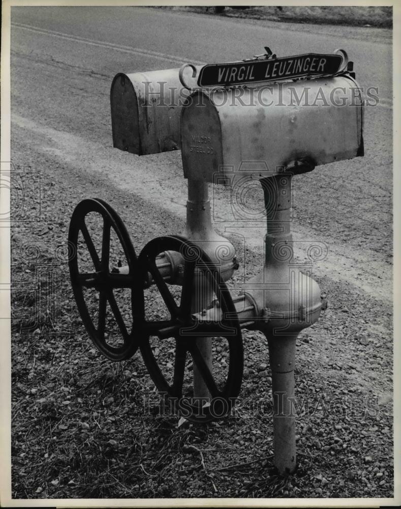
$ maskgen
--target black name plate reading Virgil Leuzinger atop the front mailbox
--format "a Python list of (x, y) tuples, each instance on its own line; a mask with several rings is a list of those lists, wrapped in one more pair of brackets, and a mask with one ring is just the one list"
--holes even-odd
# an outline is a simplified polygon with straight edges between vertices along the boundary
[(231, 86), (260, 81), (277, 81), (336, 74), (342, 65), (341, 55), (306, 53), (274, 60), (252, 60), (202, 67), (199, 87)]

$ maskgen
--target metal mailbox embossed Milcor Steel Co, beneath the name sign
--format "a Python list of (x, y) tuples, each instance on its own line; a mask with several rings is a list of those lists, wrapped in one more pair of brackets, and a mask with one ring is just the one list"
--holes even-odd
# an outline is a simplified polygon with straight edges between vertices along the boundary
[(363, 106), (349, 75), (257, 88), (198, 90), (181, 112), (184, 177), (228, 184), (308, 161), (363, 155)]

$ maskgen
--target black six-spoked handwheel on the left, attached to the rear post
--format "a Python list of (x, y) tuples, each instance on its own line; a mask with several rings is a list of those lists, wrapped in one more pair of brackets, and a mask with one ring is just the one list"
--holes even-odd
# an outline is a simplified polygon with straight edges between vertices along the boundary
[[(129, 359), (138, 349), (134, 326), (138, 318), (142, 321), (134, 315), (133, 302), (143, 295), (124, 223), (103, 200), (83, 200), (72, 214), (68, 240), (71, 285), (92, 342), (110, 360)], [(117, 265), (128, 270), (110, 270)]]

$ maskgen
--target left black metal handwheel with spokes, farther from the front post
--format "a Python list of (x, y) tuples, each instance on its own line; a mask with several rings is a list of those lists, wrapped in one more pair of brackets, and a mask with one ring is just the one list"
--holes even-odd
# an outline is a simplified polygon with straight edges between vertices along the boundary
[[(101, 238), (101, 247), (97, 249), (92, 236), (89, 233), (85, 219), (88, 215), (96, 217), (101, 225), (98, 232)], [(110, 236), (113, 231), (113, 238), (116, 236), (119, 242), (120, 251), (128, 265), (128, 274), (119, 274), (110, 271)], [(83, 242), (79, 244), (80, 233)], [(121, 361), (129, 359), (138, 349), (138, 340), (134, 335), (135, 324), (138, 318), (134, 315), (132, 302), (143, 300), (141, 288), (136, 280), (137, 257), (131, 243), (128, 232), (119, 215), (106, 202), (100, 199), (82, 200), (75, 208), (70, 221), (68, 233), (70, 256), (69, 268), (71, 285), (77, 303), (78, 312), (92, 342), (100, 352), (110, 360)], [(92, 265), (92, 270), (81, 271), (79, 256), (81, 249), (86, 248)], [(100, 251), (100, 252), (99, 252)], [(88, 308), (85, 299), (85, 290), (91, 289), (98, 293), (99, 304), (94, 316), (93, 307)], [(116, 300), (115, 291), (118, 289), (131, 289), (129, 302), (130, 324), (127, 326), (120, 304)], [(137, 293), (139, 292), (139, 296)], [(107, 313), (107, 306), (111, 313)], [(108, 343), (108, 325), (113, 323), (122, 341), (118, 346)]]

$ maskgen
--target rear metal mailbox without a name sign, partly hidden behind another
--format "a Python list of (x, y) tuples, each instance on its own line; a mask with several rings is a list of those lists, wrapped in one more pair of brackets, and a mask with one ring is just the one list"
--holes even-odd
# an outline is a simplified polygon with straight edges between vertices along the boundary
[(138, 155), (180, 148), (180, 113), (189, 93), (179, 71), (115, 75), (110, 90), (113, 147)]

